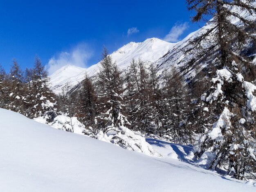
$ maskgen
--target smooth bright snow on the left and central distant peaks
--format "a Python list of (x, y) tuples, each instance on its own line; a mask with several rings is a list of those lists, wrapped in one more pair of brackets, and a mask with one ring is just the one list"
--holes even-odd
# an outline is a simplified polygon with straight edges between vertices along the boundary
[[(146, 39), (144, 42), (130, 42), (111, 54), (113, 61), (121, 69), (126, 69), (130, 65), (132, 58), (141, 58), (145, 62), (155, 62), (168, 52), (175, 43), (169, 43), (157, 38)], [(89, 76), (97, 73), (100, 63), (92, 65), (88, 69), (76, 66), (64, 66), (50, 76), (50, 83), (55, 93), (61, 93), (62, 87), (74, 87), (80, 83), (85, 76), (85, 71)]]

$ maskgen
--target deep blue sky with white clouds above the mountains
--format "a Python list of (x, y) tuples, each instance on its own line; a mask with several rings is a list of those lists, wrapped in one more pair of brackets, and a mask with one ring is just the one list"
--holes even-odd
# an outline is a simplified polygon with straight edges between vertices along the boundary
[(186, 0), (0, 0), (0, 63), (9, 71), (16, 58), (25, 69), (38, 55), (48, 66), (88, 67), (103, 45), (112, 52), (146, 38), (180, 40), (199, 27), (190, 16)]

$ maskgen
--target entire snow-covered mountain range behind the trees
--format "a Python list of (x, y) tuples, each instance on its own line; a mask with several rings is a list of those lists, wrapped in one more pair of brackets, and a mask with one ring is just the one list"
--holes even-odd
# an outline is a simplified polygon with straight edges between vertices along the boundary
[[(254, 2), (254, 5), (256, 5), (256, 2)], [(233, 11), (236, 12), (238, 15), (245, 16), (245, 18), (253, 18), (256, 16), (251, 16), (245, 10), (237, 8)], [(231, 18), (231, 22), (236, 25), (241, 25), (240, 20), (235, 17)], [(169, 43), (157, 38), (149, 38), (146, 39), (144, 42), (130, 42), (127, 45), (124, 45), (123, 47), (118, 49), (117, 51), (113, 52), (111, 56), (121, 69), (126, 69), (130, 65), (130, 61), (132, 60), (132, 58), (141, 58), (141, 60), (143, 60), (144, 62), (153, 62), (159, 67), (159, 69), (162, 70), (166, 70), (171, 66), (175, 66), (180, 69), (186, 66), (188, 61), (191, 60), (195, 54), (196, 50), (185, 56), (184, 50), (186, 50), (186, 48), (189, 46), (189, 42), (194, 38), (200, 36), (205, 30), (211, 28), (212, 25), (213, 24), (211, 22), (207, 23), (204, 27), (190, 33), (183, 40), (177, 43)], [(211, 41), (214, 41), (214, 38), (209, 38), (209, 42), (206, 43), (204, 47), (210, 46)], [(247, 52), (250, 49), (252, 50), (251, 52), (255, 54), (256, 45), (248, 44), (248, 46), (245, 47), (244, 51)], [(207, 65), (211, 63), (214, 58), (214, 54), (217, 54), (216, 49), (212, 50), (211, 53), (205, 56), (205, 60), (204, 62), (202, 62), (203, 64), (199, 63), (201, 69), (207, 67)], [(247, 56), (250, 57), (251, 55), (247, 54)], [(255, 60), (254, 63), (256, 63)], [(92, 65), (88, 69), (81, 68), (81, 70), (77, 70), (74, 76), (66, 76), (67, 66), (59, 69), (51, 76), (52, 89), (55, 93), (60, 93), (61, 88), (65, 87), (65, 85), (67, 84), (69, 84), (69, 89), (74, 87), (75, 85), (78, 85), (84, 79), (85, 71), (89, 74), (89, 76), (93, 76), (97, 73), (99, 65), (100, 63), (97, 63), (96, 65)], [(77, 68), (75, 66), (73, 67), (74, 69), (71, 69), (72, 67), (70, 66), (71, 74), (74, 74), (73, 71), (76, 71)], [(193, 79), (197, 74), (195, 66), (190, 67), (183, 74), (185, 78)], [(59, 79), (59, 76), (63, 77), (61, 78), (63, 80), (55, 81), (56, 79)]]

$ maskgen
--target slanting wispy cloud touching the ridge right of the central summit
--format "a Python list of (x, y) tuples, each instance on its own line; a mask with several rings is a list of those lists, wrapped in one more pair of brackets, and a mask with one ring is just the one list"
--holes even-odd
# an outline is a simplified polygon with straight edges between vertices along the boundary
[(164, 41), (167, 42), (178, 42), (180, 41), (180, 36), (182, 33), (189, 28), (187, 22), (183, 24), (176, 23), (170, 30), (170, 32), (163, 38)]

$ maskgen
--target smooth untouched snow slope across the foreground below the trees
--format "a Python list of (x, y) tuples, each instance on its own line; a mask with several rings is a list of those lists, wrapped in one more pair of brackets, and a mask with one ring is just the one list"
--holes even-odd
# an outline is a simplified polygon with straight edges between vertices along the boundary
[(5, 109), (0, 117), (2, 192), (255, 191), (188, 163), (124, 150)]

